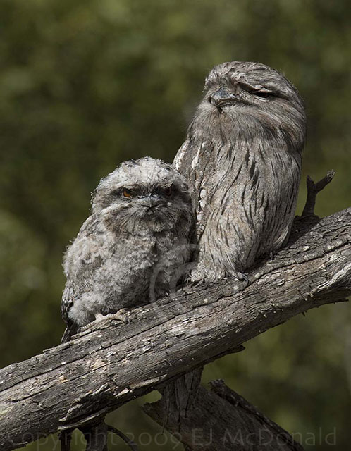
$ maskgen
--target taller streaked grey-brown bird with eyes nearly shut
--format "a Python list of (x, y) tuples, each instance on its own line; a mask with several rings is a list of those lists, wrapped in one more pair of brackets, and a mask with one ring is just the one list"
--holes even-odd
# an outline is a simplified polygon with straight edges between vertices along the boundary
[(193, 192), (199, 243), (193, 280), (242, 277), (284, 245), (293, 223), (306, 117), (276, 70), (216, 66), (174, 164)]

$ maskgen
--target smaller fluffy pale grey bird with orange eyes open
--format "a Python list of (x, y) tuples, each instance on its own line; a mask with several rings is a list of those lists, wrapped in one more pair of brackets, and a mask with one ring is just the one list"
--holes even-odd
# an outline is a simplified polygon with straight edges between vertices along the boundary
[(185, 178), (164, 161), (126, 161), (102, 179), (64, 259), (63, 342), (99, 314), (166, 294), (190, 259), (192, 216)]

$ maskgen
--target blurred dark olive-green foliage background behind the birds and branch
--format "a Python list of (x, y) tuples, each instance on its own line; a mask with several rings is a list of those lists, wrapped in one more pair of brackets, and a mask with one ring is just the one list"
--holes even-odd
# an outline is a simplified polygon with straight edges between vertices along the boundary
[[(293, 81), (309, 118), (304, 176), (337, 174), (316, 213), (351, 205), (348, 1), (1, 0), (0, 18), (1, 366), (58, 344), (62, 254), (90, 192), (125, 159), (172, 161), (217, 63), (260, 61)], [(304, 197), (303, 182), (297, 213)], [(204, 379), (224, 378), (307, 449), (346, 450), (350, 320), (347, 304), (309, 311), (208, 365)], [(109, 421), (140, 450), (183, 449), (140, 402)], [(27, 449), (58, 450), (55, 440)]]

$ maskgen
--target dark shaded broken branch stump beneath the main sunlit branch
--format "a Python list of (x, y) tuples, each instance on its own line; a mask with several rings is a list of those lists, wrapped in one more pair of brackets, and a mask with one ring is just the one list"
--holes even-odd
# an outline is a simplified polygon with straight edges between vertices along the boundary
[[(181, 424), (176, 412), (167, 416), (164, 426), (185, 447), (194, 451), (303, 451), (288, 432), (258, 412), (223, 381), (212, 381), (210, 385), (210, 392), (199, 387), (196, 403)], [(157, 423), (164, 424), (163, 398), (145, 404), (143, 409)]]

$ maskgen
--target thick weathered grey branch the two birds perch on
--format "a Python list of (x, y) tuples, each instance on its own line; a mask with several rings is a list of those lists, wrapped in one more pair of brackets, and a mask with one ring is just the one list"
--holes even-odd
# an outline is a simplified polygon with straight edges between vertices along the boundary
[[(351, 294), (351, 209), (297, 221), (290, 244), (249, 274), (106, 319), (0, 371), (0, 445), (12, 450), (109, 412), (290, 317)], [(301, 230), (304, 235), (300, 236)]]

